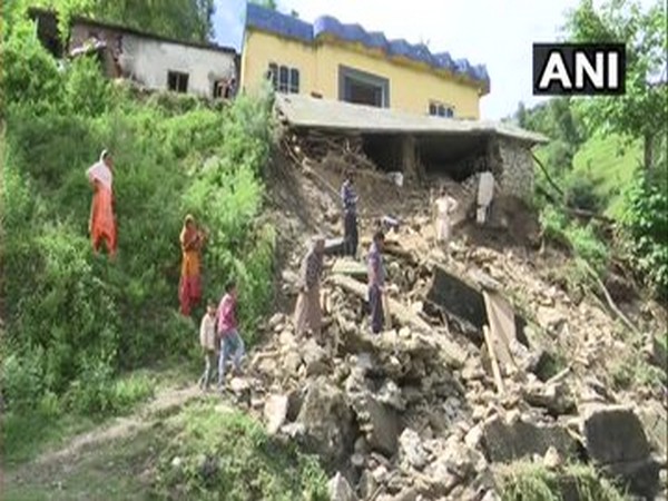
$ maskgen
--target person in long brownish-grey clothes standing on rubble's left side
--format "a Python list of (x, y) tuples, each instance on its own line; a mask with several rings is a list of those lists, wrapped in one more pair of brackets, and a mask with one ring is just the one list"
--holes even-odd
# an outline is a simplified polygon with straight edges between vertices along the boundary
[(320, 304), (320, 282), (323, 272), (325, 238), (313, 238), (311, 248), (302, 262), (299, 272), (299, 296), (295, 306), (295, 331), (297, 335), (311, 331), (320, 338), (322, 326), (322, 308)]

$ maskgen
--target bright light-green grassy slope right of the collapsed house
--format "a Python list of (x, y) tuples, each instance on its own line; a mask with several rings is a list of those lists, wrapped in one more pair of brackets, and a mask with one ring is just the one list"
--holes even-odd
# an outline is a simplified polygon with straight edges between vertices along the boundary
[(642, 160), (640, 144), (623, 145), (618, 136), (595, 136), (582, 145), (573, 159), (574, 173), (595, 181), (597, 195), (608, 202), (606, 215), (613, 218), (620, 216), (621, 191)]

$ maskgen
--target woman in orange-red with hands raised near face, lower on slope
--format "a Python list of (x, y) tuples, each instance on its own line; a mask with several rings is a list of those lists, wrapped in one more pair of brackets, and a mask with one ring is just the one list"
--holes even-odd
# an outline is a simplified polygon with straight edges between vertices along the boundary
[(197, 229), (195, 218), (186, 216), (184, 229), (180, 233), (180, 246), (183, 253), (181, 275), (178, 286), (178, 299), (180, 313), (190, 316), (193, 307), (202, 298), (202, 271), (199, 252), (204, 245), (206, 235)]

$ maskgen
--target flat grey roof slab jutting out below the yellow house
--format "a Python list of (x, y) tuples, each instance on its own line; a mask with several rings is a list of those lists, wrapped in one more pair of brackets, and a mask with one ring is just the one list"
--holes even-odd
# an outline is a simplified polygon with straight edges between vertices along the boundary
[(459, 120), (412, 115), (299, 95), (276, 95), (276, 108), (294, 128), (356, 134), (498, 135), (531, 146), (549, 143), (541, 134), (489, 120)]

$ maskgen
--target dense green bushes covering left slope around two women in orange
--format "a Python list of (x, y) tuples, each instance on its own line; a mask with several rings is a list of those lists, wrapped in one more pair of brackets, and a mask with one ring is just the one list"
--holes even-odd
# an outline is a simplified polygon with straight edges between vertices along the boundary
[[(67, 429), (75, 416), (129, 412), (154, 383), (122, 374), (199, 358), (197, 325), (176, 311), (187, 213), (210, 234), (205, 293), (218, 298), (236, 277), (242, 334), (253, 344), (272, 304), (275, 235), (256, 216), (273, 120), (268, 90), (223, 109), (193, 98), (138, 102), (94, 60), (58, 69), (30, 23), (3, 35), (2, 432), (4, 455), (20, 460), (47, 429), (60, 433), (49, 424), (28, 440), (22, 420), (38, 430), (63, 419)], [(85, 173), (102, 148), (116, 163), (112, 263), (95, 258), (87, 237)]]

